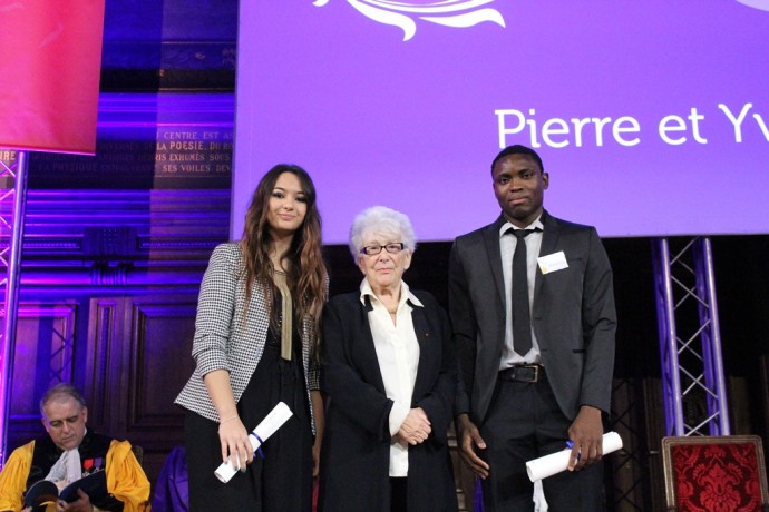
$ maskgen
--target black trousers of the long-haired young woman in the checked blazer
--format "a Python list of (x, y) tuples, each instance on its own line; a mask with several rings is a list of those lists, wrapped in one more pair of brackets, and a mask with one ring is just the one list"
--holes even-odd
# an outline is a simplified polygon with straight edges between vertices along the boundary
[(280, 347), (267, 345), (237, 411), (253, 429), (279, 402), (293, 416), (262, 445), (245, 473), (227, 483), (214, 476), (222, 463), (218, 424), (187, 411), (184, 424), (192, 512), (310, 512), (312, 509), (312, 431), (301, 358), (280, 358)]

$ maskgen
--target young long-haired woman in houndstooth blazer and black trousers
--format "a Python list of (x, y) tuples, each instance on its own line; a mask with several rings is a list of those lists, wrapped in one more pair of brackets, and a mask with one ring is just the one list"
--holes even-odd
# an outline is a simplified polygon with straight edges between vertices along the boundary
[[(191, 510), (311, 510), (327, 287), (314, 186), (301, 167), (278, 165), (254, 191), (243, 237), (216, 247), (201, 285), (196, 368), (176, 398), (187, 410)], [(293, 415), (254, 456), (249, 432), (278, 402)], [(222, 483), (214, 471), (231, 456), (244, 474)]]

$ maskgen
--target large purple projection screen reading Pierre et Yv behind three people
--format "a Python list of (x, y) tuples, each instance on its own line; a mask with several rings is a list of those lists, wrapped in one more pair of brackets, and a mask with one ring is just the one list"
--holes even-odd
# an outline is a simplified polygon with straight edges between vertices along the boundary
[(372, 205), (452, 239), (510, 144), (602, 236), (769, 233), (769, 0), (242, 1), (235, 93), (233, 238), (293, 163), (327, 244)]

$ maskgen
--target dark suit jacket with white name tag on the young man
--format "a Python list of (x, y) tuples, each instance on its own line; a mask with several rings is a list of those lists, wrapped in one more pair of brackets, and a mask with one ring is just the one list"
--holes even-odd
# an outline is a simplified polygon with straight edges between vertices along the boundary
[[(449, 313), (460, 386), (456, 414), (483, 423), (505, 343), (505, 284), (499, 217), (458, 237), (449, 262)], [(568, 268), (543, 274), (537, 266), (532, 324), (542, 363), (561, 410), (574, 419), (581, 405), (609, 412), (616, 312), (612, 269), (598, 234), (545, 211), (539, 256), (563, 250)]]

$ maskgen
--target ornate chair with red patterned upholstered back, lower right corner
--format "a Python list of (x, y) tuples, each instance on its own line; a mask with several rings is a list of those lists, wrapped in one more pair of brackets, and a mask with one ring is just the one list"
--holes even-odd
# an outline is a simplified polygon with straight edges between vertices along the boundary
[(669, 511), (769, 512), (757, 435), (663, 437), (662, 463)]

